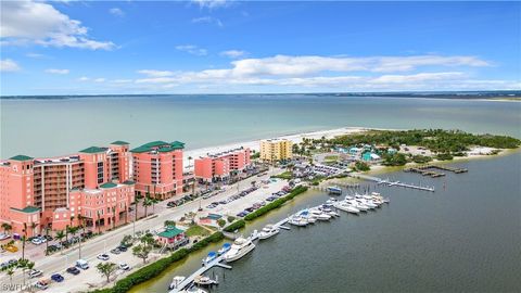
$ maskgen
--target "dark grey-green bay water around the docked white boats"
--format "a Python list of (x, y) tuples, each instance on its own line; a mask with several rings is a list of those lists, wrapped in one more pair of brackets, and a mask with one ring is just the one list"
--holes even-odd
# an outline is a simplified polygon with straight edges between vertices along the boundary
[[(519, 292), (521, 153), (452, 165), (470, 171), (440, 179), (380, 175), (422, 181), (436, 192), (371, 186), (391, 204), (283, 230), (232, 270), (213, 269), (221, 281), (213, 292)], [(328, 199), (318, 191), (301, 196), (246, 232)], [(174, 276), (194, 271), (211, 250), (217, 245), (132, 292), (165, 292)]]

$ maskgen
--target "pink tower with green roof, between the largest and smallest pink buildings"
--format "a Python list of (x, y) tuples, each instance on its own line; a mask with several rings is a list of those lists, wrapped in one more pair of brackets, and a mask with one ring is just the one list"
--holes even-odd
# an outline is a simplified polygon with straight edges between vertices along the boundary
[(136, 194), (161, 200), (182, 193), (182, 150), (180, 141), (153, 141), (130, 150)]

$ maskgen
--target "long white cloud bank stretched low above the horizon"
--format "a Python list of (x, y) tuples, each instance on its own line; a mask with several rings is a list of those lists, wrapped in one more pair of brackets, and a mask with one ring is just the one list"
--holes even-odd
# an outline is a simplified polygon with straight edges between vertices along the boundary
[[(230, 50), (234, 51), (234, 50)], [(229, 52), (229, 51), (226, 51)], [(238, 51), (241, 52), (241, 51)], [(233, 52), (223, 55), (240, 55)], [(135, 84), (205, 86), (275, 86), (338, 88), (342, 90), (414, 90), (472, 88), (479, 85), (463, 71), (441, 71), (447, 67), (482, 67), (491, 64), (476, 56), (290, 56), (242, 59), (230, 62), (229, 68), (194, 72), (140, 71), (147, 75)], [(418, 72), (424, 67), (427, 72)], [(408, 72), (404, 74), (404, 72)], [(397, 74), (399, 73), (399, 74)], [(488, 87), (512, 88), (519, 82), (495, 80)]]

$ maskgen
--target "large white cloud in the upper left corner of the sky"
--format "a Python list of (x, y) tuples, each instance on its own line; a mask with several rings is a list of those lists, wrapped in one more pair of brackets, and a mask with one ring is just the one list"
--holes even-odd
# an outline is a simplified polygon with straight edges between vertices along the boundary
[(52, 47), (72, 47), (110, 50), (111, 41), (88, 37), (81, 22), (71, 20), (49, 3), (31, 0), (1, 1), (0, 30), (2, 44), (37, 43)]

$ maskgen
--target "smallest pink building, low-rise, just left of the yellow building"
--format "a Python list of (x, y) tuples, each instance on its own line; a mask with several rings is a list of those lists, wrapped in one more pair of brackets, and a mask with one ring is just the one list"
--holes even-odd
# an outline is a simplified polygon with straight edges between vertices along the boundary
[(250, 149), (239, 148), (195, 158), (194, 174), (196, 179), (211, 182), (226, 179), (232, 171), (242, 171), (250, 164)]

